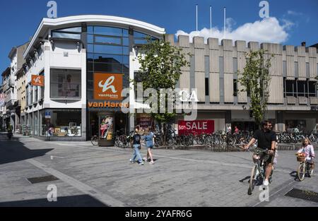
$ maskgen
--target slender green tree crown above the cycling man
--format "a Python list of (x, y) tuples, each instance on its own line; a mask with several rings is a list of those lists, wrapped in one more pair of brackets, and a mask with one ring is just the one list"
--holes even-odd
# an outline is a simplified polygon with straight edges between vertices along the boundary
[(244, 88), (240, 92), (247, 92), (249, 95), (251, 99), (249, 109), (257, 124), (264, 119), (269, 101), (269, 84), (271, 83), (269, 68), (272, 56), (266, 59), (265, 53), (264, 49), (245, 53), (246, 66), (242, 73), (237, 73), (237, 81)]

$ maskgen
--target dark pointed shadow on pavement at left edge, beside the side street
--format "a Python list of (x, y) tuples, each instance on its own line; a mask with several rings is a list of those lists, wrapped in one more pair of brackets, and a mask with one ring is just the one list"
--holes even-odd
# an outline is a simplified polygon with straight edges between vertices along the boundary
[(13, 137), (11, 141), (8, 141), (2, 134), (0, 141), (0, 165), (41, 157), (52, 150), (54, 149), (30, 150), (19, 141), (19, 138)]

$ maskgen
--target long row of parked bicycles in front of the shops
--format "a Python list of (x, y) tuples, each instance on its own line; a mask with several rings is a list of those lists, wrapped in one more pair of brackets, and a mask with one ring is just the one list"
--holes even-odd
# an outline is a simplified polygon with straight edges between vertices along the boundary
[[(215, 131), (214, 133), (201, 133), (195, 131), (188, 131), (184, 134), (177, 135), (175, 129), (170, 129), (167, 133), (167, 146), (193, 146), (205, 145), (207, 147), (215, 145), (244, 145), (248, 143), (252, 137), (252, 131), (240, 131), (238, 133), (225, 133), (225, 131)], [(155, 134), (155, 147), (164, 145), (162, 134), (158, 131)], [(129, 135), (117, 135), (114, 144), (119, 148), (130, 148), (130, 141), (134, 132), (131, 131)], [(318, 136), (316, 133), (276, 133), (278, 143), (301, 143), (305, 138), (309, 138), (312, 143), (318, 143)]]

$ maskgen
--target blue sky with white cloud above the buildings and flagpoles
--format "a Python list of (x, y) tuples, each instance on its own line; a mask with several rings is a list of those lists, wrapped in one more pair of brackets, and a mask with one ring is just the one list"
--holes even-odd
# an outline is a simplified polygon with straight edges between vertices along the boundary
[[(33, 36), (37, 25), (47, 16), (48, 0), (0, 1), (0, 72), (10, 64), (8, 53)], [(83, 14), (122, 16), (165, 28), (167, 33), (208, 37), (209, 6), (213, 7), (213, 37), (223, 34), (223, 7), (227, 8), (227, 38), (254, 37), (268, 42), (299, 45), (318, 43), (317, 0), (271, 0), (269, 16), (259, 17), (260, 0), (57, 0), (58, 17)], [(196, 7), (199, 5), (199, 31), (196, 30)], [(209, 31), (208, 31), (209, 32)], [(267, 34), (269, 32), (269, 34)], [(260, 36), (261, 35), (261, 36)]]

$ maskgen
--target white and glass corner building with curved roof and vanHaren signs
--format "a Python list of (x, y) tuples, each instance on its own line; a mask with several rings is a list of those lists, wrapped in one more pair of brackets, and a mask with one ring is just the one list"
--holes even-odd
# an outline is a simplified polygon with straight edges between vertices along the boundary
[[(25, 124), (34, 136), (51, 141), (99, 135), (112, 143), (114, 131), (129, 130), (129, 114), (120, 112), (120, 93), (105, 98), (109, 94), (100, 84), (114, 82), (118, 89), (110, 89), (119, 92), (129, 88), (134, 45), (163, 34), (163, 28), (129, 18), (44, 18), (24, 54)], [(44, 76), (45, 87), (33, 85), (33, 75)]]

